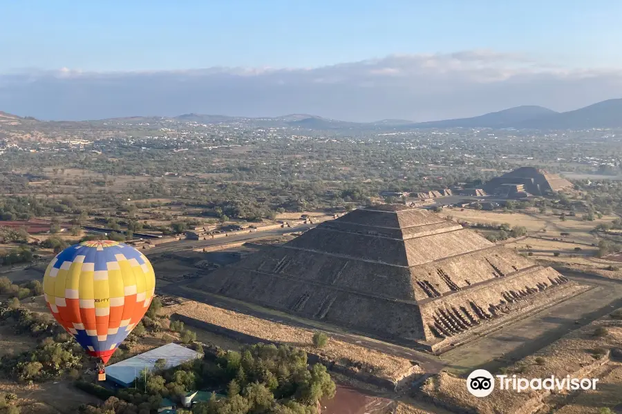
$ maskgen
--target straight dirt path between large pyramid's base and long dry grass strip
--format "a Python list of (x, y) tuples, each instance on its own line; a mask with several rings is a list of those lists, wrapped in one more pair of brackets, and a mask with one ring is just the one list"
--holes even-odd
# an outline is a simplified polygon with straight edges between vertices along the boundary
[(445, 364), (443, 364), (437, 357), (422, 353), (420, 351), (415, 351), (411, 348), (389, 344), (388, 342), (382, 342), (377, 339), (356, 335), (354, 333), (347, 333), (337, 328), (337, 326), (328, 326), (327, 324), (319, 324), (319, 322), (310, 320), (306, 321), (279, 311), (272, 311), (271, 309), (261, 308), (261, 306), (247, 304), (236, 299), (213, 295), (201, 290), (189, 288), (183, 284), (169, 284), (162, 287), (161, 290), (167, 295), (184, 297), (185, 299), (191, 299), (196, 302), (217, 306), (218, 308), (225, 308), (230, 311), (244, 313), (245, 315), (267, 319), (280, 324), (297, 326), (299, 328), (305, 328), (312, 331), (326, 331), (326, 333), (330, 334), (331, 337), (339, 339), (340, 341), (365, 346), (366, 348), (375, 349), (388, 355), (395, 355), (396, 357), (416, 361), (422, 366), (422, 368), (424, 368), (426, 373), (438, 373), (445, 366)]

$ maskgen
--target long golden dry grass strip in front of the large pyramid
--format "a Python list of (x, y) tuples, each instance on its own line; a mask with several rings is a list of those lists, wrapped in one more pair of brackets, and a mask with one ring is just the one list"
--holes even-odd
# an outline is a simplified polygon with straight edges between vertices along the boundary
[(312, 331), (227, 311), (207, 304), (189, 301), (165, 308), (164, 312), (167, 315), (179, 313), (187, 317), (194, 317), (211, 324), (246, 333), (247, 335), (260, 337), (266, 341), (298, 346), (310, 353), (320, 353), (334, 361), (339, 362), (347, 358), (352, 362), (372, 366), (375, 375), (393, 381), (413, 373), (413, 365), (408, 359), (393, 357), (364, 348), (363, 346), (352, 345), (335, 339), (330, 339), (328, 345), (319, 350), (312, 346)]

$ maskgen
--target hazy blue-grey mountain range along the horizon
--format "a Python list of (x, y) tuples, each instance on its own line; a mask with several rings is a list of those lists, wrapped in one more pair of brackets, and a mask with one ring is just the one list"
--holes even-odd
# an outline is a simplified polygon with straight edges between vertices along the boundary
[[(20, 118), (0, 111), (0, 119), (32, 120)], [(305, 130), (408, 130), (422, 128), (516, 128), (516, 129), (587, 129), (622, 128), (622, 99), (609, 99), (585, 108), (568, 112), (555, 112), (542, 106), (517, 106), (490, 112), (478, 117), (445, 119), (442, 121), (413, 122), (403, 119), (383, 119), (376, 122), (348, 122), (307, 114), (292, 114), (282, 117), (232, 117), (225, 115), (185, 114), (178, 117), (128, 117), (102, 119), (92, 122), (145, 123), (174, 119), (180, 122), (199, 124), (244, 123), (265, 127), (290, 127)]]

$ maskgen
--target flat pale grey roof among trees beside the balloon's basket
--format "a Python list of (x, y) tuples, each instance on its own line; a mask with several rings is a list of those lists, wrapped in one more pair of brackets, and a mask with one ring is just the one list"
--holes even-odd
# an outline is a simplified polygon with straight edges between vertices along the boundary
[(167, 362), (167, 368), (179, 366), (184, 362), (202, 358), (203, 354), (178, 344), (166, 344), (151, 351), (124, 359), (121, 362), (106, 367), (106, 381), (113, 382), (124, 388), (132, 386), (141, 371), (153, 371), (158, 359)]

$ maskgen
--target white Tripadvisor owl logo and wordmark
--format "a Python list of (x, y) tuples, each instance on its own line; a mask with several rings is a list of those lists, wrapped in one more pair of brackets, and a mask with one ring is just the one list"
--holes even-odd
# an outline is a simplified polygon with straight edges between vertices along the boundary
[[(547, 378), (522, 378), (516, 375), (495, 375), (501, 391), (577, 391), (595, 390), (598, 378), (571, 378), (556, 377), (551, 375)], [(466, 378), (466, 390), (475, 397), (487, 397), (495, 389), (495, 377), (485, 369), (476, 369)]]

